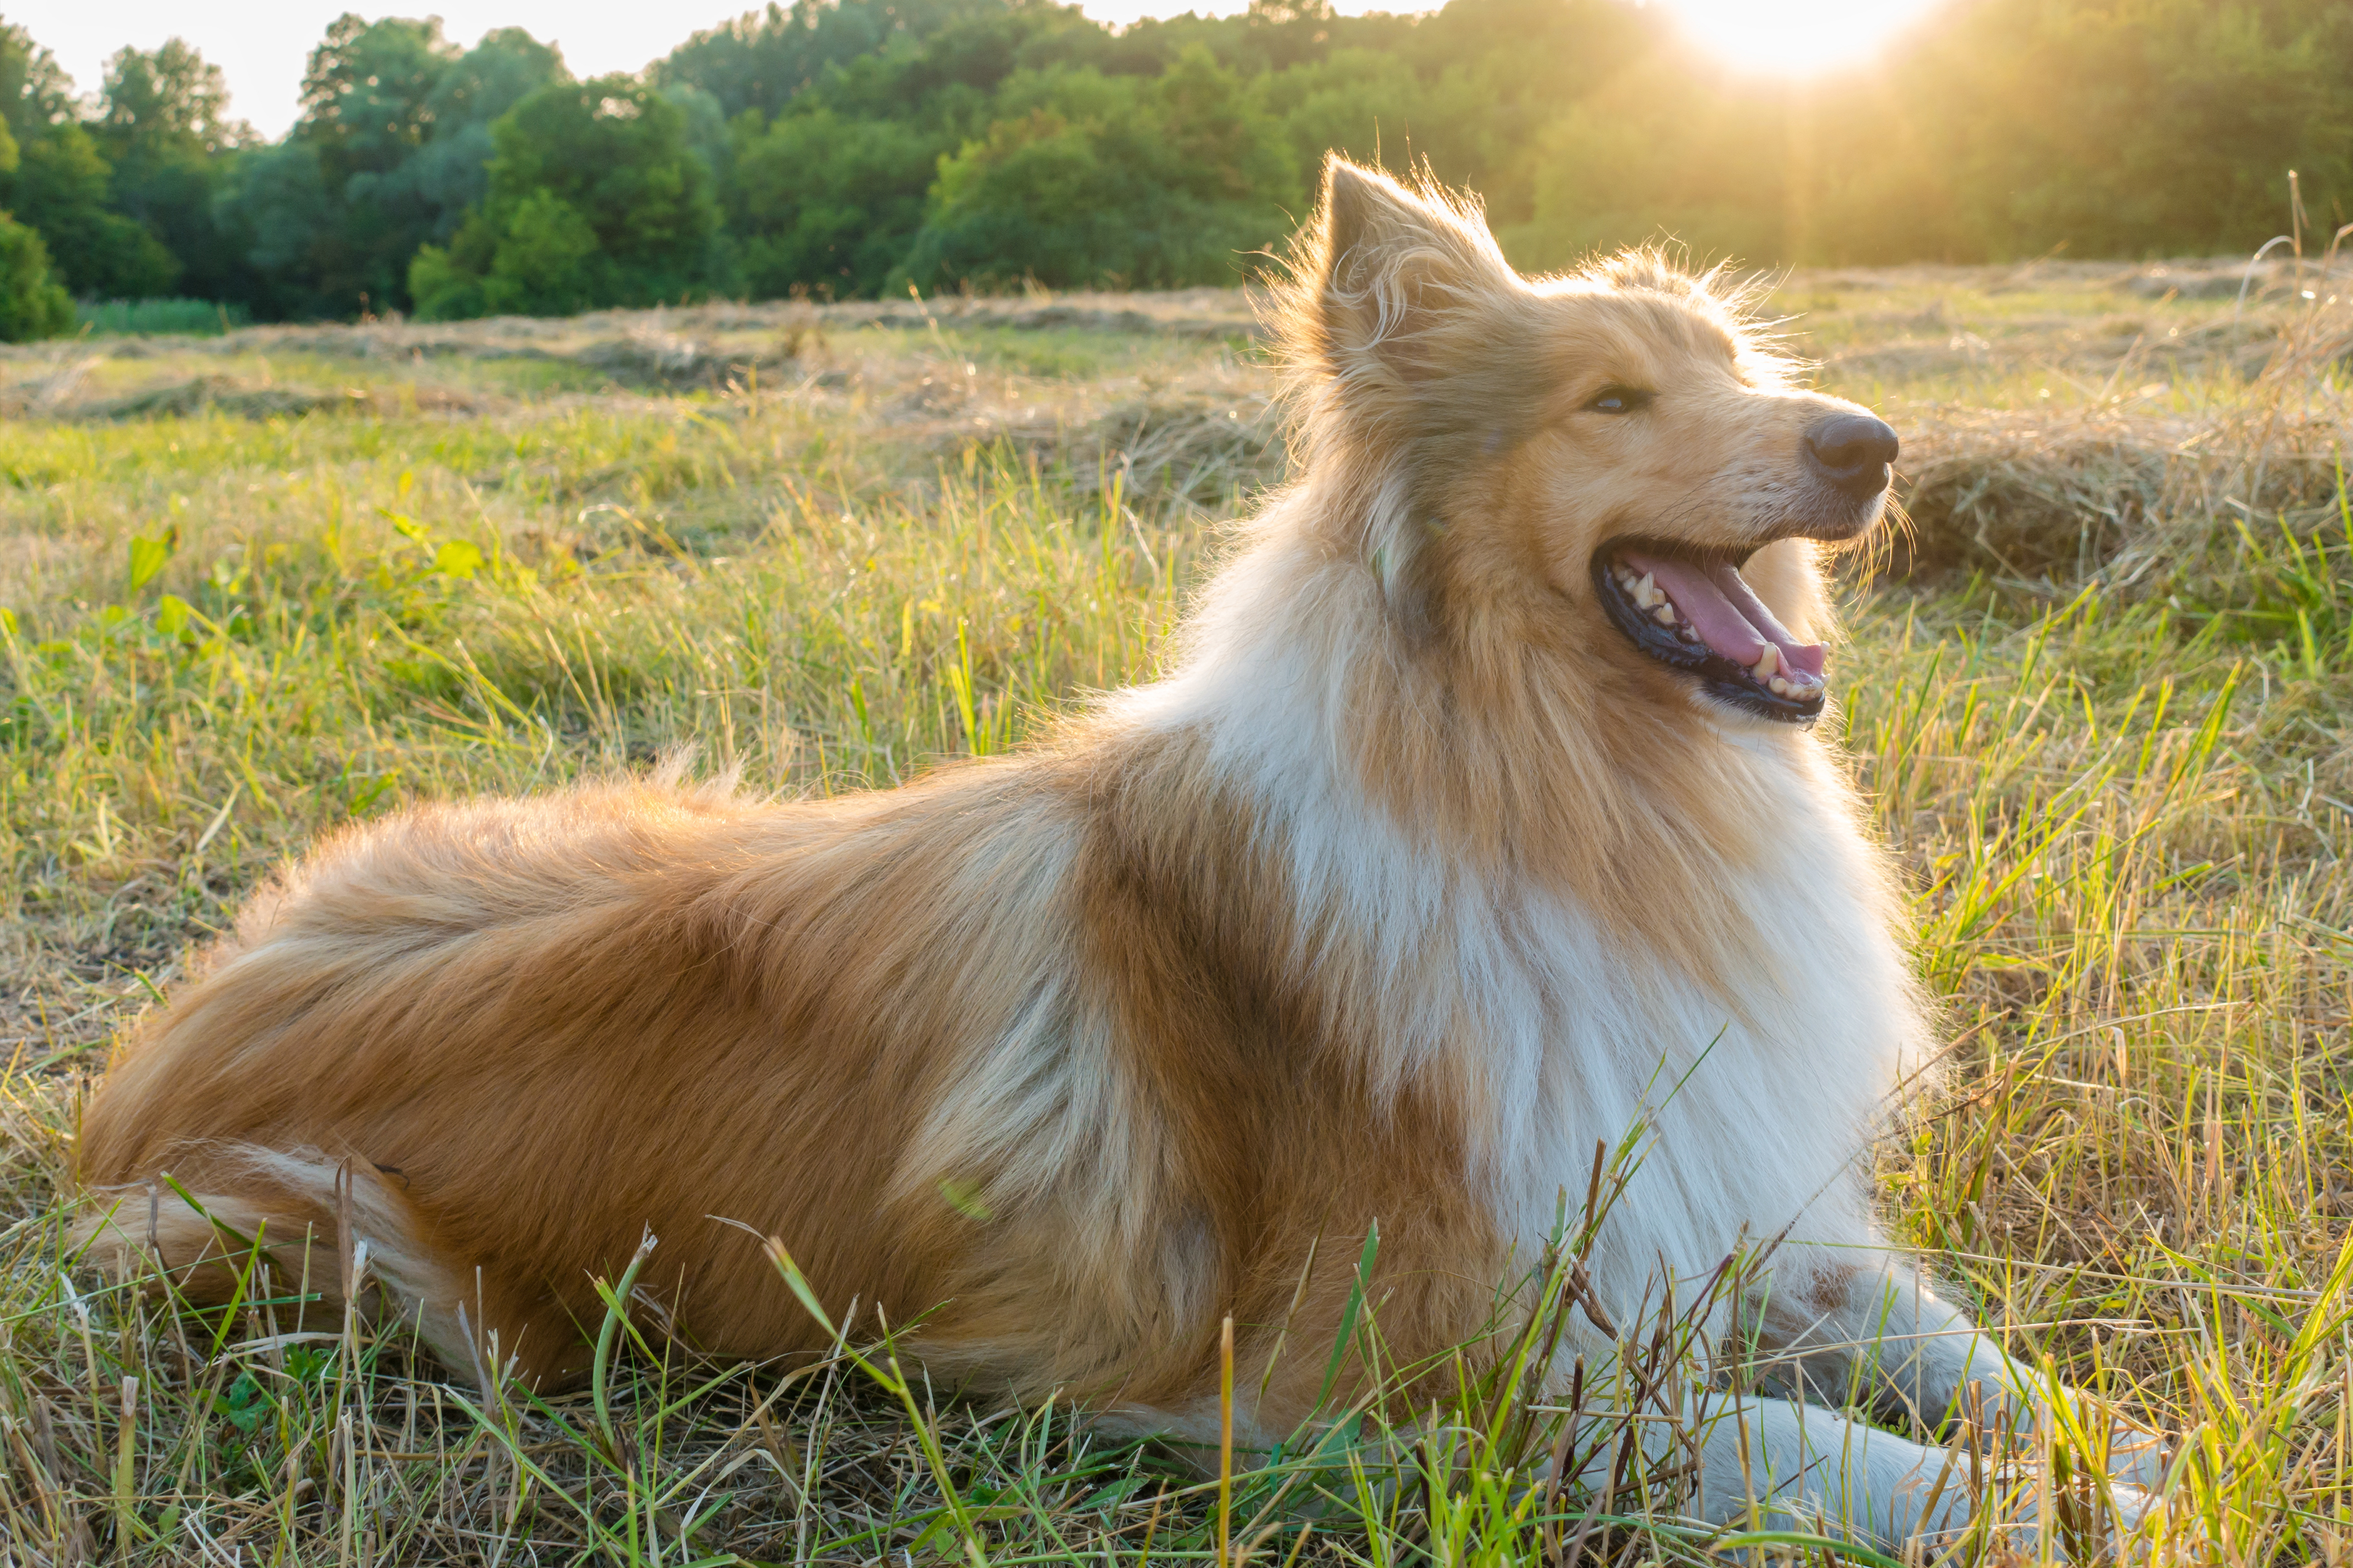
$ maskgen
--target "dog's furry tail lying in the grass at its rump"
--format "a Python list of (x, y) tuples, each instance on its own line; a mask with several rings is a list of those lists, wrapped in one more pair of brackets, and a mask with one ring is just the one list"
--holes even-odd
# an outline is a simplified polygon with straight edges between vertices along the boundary
[(87, 1187), (75, 1251), (118, 1279), (169, 1281), (193, 1302), (280, 1302), (287, 1331), (336, 1328), (346, 1305), (372, 1324), (400, 1319), (445, 1366), (482, 1375), (480, 1307), (466, 1312), (466, 1288), (431, 1248), (398, 1173), (249, 1143), (205, 1145), (181, 1164), (188, 1182), (158, 1171)]

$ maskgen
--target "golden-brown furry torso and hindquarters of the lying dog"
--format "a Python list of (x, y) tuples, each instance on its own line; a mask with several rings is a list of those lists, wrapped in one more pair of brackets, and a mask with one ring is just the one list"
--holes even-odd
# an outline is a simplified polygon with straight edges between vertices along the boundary
[[(1445, 1208), (1461, 1152), (1412, 1098), (1367, 1138), (1365, 1086), (1285, 1048), (1280, 872), (1181, 799), (1188, 748), (1125, 750), (847, 804), (612, 785), (348, 830), (141, 1027), (82, 1180), (195, 1295), (259, 1234), (332, 1300), (365, 1239), (454, 1366), (581, 1375), (591, 1281), (647, 1232), (640, 1293), (689, 1342), (816, 1349), (779, 1237), (835, 1316), (925, 1319), (944, 1371), (1184, 1408), (1221, 1309), (1268, 1340), (1327, 1316), (1374, 1215)], [(1407, 1295), (1438, 1338), (1487, 1302), (1447, 1272)]]

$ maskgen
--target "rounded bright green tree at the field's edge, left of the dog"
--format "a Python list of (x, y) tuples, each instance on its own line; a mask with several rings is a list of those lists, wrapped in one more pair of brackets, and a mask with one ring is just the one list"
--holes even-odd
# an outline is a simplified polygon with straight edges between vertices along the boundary
[(708, 287), (718, 202), (678, 103), (640, 80), (541, 87), (492, 125), (489, 195), (409, 266), (419, 313), (560, 315)]

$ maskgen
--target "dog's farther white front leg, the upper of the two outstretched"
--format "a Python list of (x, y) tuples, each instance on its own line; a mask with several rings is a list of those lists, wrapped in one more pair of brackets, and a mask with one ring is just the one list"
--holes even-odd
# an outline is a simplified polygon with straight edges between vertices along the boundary
[[(1800, 1399), (1854, 1403), (1882, 1420), (1946, 1432), (1967, 1420), (1979, 1434), (2038, 1443), (2075, 1434), (2082, 1458), (2108, 1479), (2155, 1488), (2165, 1443), (2097, 1410), (2075, 1389), (2012, 1359), (1965, 1312), (1929, 1291), (1915, 1267), (1814, 1265), (1791, 1300), (1767, 1298), (1760, 1321), (1765, 1382)], [(1777, 1269), (1777, 1291), (1788, 1284)], [(1807, 1316), (1800, 1316), (1809, 1309)], [(1774, 1333), (1779, 1328), (1779, 1333)]]

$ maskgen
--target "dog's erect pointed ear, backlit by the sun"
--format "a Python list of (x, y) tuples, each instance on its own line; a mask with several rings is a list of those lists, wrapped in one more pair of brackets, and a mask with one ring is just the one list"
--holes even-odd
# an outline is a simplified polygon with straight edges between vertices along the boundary
[(1440, 374), (1447, 320), (1518, 284), (1478, 209), (1337, 153), (1325, 162), (1311, 266), (1318, 336), (1341, 378), (1374, 364), (1402, 381)]

